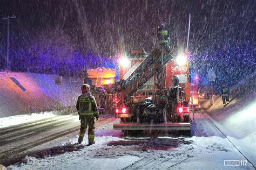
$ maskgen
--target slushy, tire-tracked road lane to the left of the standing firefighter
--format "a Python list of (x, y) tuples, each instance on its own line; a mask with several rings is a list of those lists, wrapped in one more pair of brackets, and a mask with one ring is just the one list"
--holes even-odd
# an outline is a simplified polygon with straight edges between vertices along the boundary
[[(97, 123), (102, 123), (112, 117), (112, 115), (102, 117)], [(30, 118), (33, 120), (33, 117)], [(77, 133), (79, 128), (77, 115), (50, 116), (2, 128), (0, 129), (0, 164), (17, 161), (22, 155), (29, 154), (30, 148), (37, 151), (38, 146), (72, 132)]]

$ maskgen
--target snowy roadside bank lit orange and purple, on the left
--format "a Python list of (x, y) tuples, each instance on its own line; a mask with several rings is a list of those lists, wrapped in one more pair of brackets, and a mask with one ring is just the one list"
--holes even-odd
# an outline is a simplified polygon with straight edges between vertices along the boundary
[(56, 75), (0, 72), (0, 117), (74, 107), (82, 80)]

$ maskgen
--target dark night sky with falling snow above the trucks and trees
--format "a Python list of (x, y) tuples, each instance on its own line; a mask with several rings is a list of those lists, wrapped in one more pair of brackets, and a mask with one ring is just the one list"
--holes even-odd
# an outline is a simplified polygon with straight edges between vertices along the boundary
[[(238, 67), (245, 74), (254, 72), (255, 1), (0, 1), (1, 18), (16, 16), (10, 24), (10, 51), (40, 46), (45, 37), (48, 41), (54, 37), (63, 42), (54, 46), (111, 57), (117, 52), (120, 27), (127, 50), (150, 52), (157, 46), (156, 30), (161, 22), (170, 29), (171, 47), (180, 50), (185, 47), (188, 13), (192, 68), (204, 75), (210, 67), (228, 79), (233, 74), (228, 70), (234, 72)], [(0, 53), (4, 56), (6, 20), (0, 25)], [(3, 62), (2, 57), (2, 67)]]

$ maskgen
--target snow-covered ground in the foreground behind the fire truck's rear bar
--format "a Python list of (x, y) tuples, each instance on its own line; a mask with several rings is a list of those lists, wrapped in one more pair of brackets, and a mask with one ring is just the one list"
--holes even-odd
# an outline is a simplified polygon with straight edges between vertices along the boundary
[[(95, 145), (45, 158), (29, 156), (8, 169), (254, 169), (207, 116), (197, 113), (195, 120), (192, 137), (123, 137), (112, 129), (119, 120), (112, 119), (97, 125)], [(76, 141), (69, 139), (59, 147)], [(87, 136), (82, 144), (87, 144)], [(225, 160), (240, 165), (224, 166)]]

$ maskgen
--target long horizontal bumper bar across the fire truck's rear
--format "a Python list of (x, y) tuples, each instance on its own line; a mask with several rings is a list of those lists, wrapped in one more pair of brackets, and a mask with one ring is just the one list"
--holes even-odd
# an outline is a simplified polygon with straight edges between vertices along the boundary
[(113, 125), (114, 130), (191, 130), (191, 123), (161, 123), (161, 124), (138, 124), (117, 123)]

